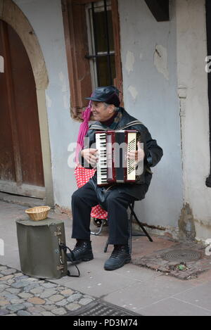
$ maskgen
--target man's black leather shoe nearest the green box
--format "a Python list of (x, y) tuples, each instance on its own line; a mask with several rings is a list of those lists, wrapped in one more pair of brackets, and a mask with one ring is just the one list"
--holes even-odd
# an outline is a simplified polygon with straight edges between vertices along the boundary
[(72, 250), (72, 253), (68, 253), (68, 256), (73, 261), (89, 261), (94, 259), (91, 250), (91, 241), (77, 240), (75, 248)]

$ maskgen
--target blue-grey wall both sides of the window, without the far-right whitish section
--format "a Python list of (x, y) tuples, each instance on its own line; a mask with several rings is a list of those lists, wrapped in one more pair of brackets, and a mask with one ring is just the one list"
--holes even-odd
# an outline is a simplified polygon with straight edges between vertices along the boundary
[[(15, 0), (30, 20), (49, 75), (46, 90), (55, 203), (70, 208), (76, 189), (68, 167), (68, 145), (77, 139), (79, 123), (70, 118), (70, 89), (59, 0)], [(181, 157), (177, 100), (176, 27), (158, 23), (143, 0), (119, 1), (124, 103), (164, 149), (151, 188), (137, 203), (143, 222), (177, 226), (181, 210)]]

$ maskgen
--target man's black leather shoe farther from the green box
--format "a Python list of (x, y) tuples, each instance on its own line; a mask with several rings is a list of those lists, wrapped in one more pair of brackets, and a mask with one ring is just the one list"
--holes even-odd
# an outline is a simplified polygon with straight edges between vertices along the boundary
[(129, 247), (127, 245), (115, 245), (113, 253), (110, 258), (106, 260), (104, 269), (114, 270), (124, 266), (131, 261), (131, 255), (129, 254)]

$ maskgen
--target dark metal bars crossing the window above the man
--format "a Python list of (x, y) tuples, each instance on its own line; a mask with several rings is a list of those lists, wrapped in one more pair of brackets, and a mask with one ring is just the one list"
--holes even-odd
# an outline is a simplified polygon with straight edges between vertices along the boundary
[(108, 31), (108, 11), (107, 11), (107, 0), (103, 0), (104, 4), (104, 12), (105, 12), (105, 21), (106, 21), (106, 39), (107, 39), (107, 53), (98, 53), (98, 43), (96, 37), (96, 19), (95, 19), (95, 11), (94, 11), (94, 2), (91, 2), (91, 13), (92, 13), (92, 20), (93, 20), (93, 30), (94, 30), (94, 45), (95, 45), (95, 53), (93, 55), (86, 55), (85, 58), (87, 59), (95, 59), (96, 61), (96, 73), (98, 82), (100, 81), (100, 74), (99, 74), (99, 65), (98, 65), (98, 58), (107, 56), (108, 60), (108, 74), (109, 74), (109, 81), (110, 84), (113, 84), (112, 80), (112, 68), (111, 68), (111, 61), (110, 56), (115, 53), (115, 51), (110, 51), (110, 42), (109, 42), (109, 31)]

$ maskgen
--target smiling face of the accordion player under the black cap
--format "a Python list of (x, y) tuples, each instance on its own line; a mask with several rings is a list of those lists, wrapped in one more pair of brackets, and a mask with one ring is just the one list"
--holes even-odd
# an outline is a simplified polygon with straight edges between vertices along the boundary
[(94, 120), (98, 122), (106, 122), (109, 120), (114, 114), (115, 106), (110, 105), (108, 107), (105, 106), (103, 102), (92, 102), (91, 112), (94, 116)]

